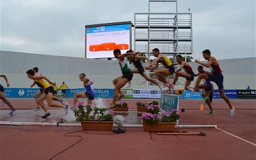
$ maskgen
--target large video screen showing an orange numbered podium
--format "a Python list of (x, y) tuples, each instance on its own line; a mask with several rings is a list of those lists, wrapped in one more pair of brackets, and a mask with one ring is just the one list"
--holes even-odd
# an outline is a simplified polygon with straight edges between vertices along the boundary
[(91, 26), (85, 26), (85, 58), (114, 58), (113, 50), (130, 49), (131, 23)]

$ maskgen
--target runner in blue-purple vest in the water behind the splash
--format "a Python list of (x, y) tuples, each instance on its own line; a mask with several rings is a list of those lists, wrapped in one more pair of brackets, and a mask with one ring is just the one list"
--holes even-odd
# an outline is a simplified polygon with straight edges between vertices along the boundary
[(74, 95), (74, 107), (77, 103), (78, 98), (88, 98), (88, 105), (92, 104), (92, 100), (94, 99), (94, 92), (92, 88), (93, 82), (90, 79), (86, 78), (85, 74), (79, 74), (79, 79), (83, 81), (84, 88), (86, 92), (79, 92)]

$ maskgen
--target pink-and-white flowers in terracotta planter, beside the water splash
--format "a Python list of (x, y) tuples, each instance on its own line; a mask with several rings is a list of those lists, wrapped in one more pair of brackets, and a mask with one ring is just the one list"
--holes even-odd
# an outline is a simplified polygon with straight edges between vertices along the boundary
[(75, 105), (74, 113), (76, 122), (81, 122), (83, 130), (111, 130), (113, 126), (113, 111), (97, 106), (85, 105), (78, 102)]

